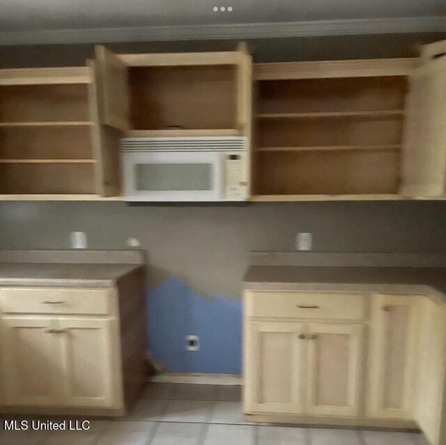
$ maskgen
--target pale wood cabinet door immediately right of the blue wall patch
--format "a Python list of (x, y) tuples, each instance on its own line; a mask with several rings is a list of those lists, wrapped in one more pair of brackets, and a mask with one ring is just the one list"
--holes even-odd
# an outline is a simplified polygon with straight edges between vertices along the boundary
[(249, 322), (245, 336), (247, 412), (302, 412), (305, 347), (299, 323)]

